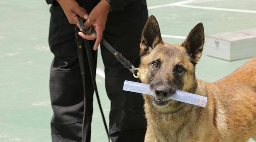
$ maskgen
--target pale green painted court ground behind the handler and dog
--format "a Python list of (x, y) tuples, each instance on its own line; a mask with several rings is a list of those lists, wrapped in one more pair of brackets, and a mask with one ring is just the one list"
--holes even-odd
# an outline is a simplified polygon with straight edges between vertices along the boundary
[[(164, 41), (182, 43), (199, 22), (205, 35), (256, 28), (255, 0), (147, 0)], [(49, 100), (49, 5), (44, 0), (0, 1), (0, 142), (50, 142), (52, 110)], [(118, 49), (117, 49), (118, 50)], [(203, 53), (196, 76), (216, 81), (248, 61), (224, 61)], [(99, 56), (97, 85), (105, 116), (105, 93)], [(139, 94), (138, 94), (139, 95)], [(100, 111), (94, 102), (92, 142), (106, 142)], [(254, 142), (252, 139), (250, 142)]]

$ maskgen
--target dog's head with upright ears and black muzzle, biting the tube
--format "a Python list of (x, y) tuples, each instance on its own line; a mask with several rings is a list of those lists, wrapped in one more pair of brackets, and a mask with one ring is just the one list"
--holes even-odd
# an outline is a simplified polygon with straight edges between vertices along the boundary
[(154, 95), (144, 95), (144, 99), (157, 112), (169, 114), (183, 108), (184, 103), (170, 100), (177, 89), (195, 92), (195, 65), (202, 55), (204, 41), (204, 28), (199, 23), (181, 45), (164, 43), (156, 18), (148, 18), (140, 43), (140, 79), (150, 84)]

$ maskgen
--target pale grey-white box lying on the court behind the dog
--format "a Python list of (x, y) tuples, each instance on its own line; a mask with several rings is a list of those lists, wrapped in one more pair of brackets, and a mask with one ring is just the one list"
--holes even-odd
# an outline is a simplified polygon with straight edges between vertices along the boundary
[(205, 51), (228, 61), (256, 56), (256, 29), (208, 35)]

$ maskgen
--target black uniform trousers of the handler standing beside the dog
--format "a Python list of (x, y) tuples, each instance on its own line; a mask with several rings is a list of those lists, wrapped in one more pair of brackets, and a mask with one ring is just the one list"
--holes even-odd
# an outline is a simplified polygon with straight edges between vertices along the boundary
[[(79, 4), (90, 12), (97, 3)], [(49, 45), (54, 53), (50, 73), (50, 96), (54, 111), (51, 119), (52, 141), (81, 141), (84, 102), (74, 37), (75, 25), (69, 24), (60, 6), (51, 6), (50, 12)], [(146, 0), (133, 0), (125, 10), (109, 13), (103, 33), (103, 38), (135, 66), (139, 64), (141, 31), (147, 18)], [(94, 44), (93, 41), (91, 44)], [(124, 80), (138, 80), (103, 45), (101, 54), (105, 65), (105, 87), (111, 101), (110, 138), (113, 142), (143, 142), (146, 132), (143, 99), (139, 94), (122, 90)], [(96, 66), (97, 51), (93, 52), (93, 58)], [(86, 94), (92, 96), (94, 90), (86, 62), (85, 67)]]

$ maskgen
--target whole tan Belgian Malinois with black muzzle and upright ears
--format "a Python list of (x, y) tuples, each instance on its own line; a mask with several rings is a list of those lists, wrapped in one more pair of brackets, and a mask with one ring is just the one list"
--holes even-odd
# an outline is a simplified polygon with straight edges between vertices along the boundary
[[(143, 94), (145, 142), (245, 142), (256, 132), (256, 57), (207, 83), (195, 77), (204, 41), (199, 23), (181, 45), (165, 43), (156, 18), (148, 18), (140, 43), (140, 79), (154, 95)], [(170, 100), (177, 89), (207, 96), (206, 107)]]

